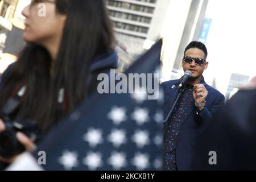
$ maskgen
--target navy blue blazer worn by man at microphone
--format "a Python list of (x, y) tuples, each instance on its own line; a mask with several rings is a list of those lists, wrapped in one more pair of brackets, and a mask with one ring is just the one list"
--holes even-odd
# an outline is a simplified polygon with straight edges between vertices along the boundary
[[(162, 82), (160, 87), (164, 91), (164, 118), (167, 117), (171, 110), (171, 102), (177, 91), (179, 80), (171, 80)], [(179, 170), (189, 170), (195, 147), (196, 135), (200, 133), (205, 123), (209, 122), (221, 105), (224, 105), (225, 97), (214, 89), (212, 86), (204, 82), (205, 88), (208, 90), (208, 96), (205, 99), (207, 106), (200, 114), (196, 111), (196, 106), (192, 106), (181, 125), (180, 134), (176, 145), (176, 164)]]

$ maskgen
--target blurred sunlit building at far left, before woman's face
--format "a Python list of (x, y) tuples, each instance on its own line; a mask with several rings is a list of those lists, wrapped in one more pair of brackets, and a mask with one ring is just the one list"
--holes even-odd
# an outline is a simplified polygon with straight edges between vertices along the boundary
[(16, 60), (24, 42), (21, 12), (30, 0), (0, 0), (0, 73)]

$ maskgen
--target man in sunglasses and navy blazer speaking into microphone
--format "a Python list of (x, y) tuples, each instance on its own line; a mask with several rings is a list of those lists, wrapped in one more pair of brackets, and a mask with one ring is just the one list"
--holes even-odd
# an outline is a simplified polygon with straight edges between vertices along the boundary
[(189, 43), (182, 60), (184, 76), (180, 80), (170, 80), (160, 85), (164, 90), (166, 118), (163, 130), (164, 170), (190, 169), (196, 135), (218, 107), (224, 104), (224, 96), (204, 81), (203, 72), (208, 67), (207, 55), (203, 43)]

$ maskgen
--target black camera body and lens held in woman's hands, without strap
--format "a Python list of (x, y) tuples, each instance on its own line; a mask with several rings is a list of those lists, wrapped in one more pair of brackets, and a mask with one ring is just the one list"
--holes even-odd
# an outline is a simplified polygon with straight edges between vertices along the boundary
[(25, 151), (24, 146), (16, 138), (18, 131), (24, 133), (31, 140), (39, 139), (39, 127), (30, 121), (7, 121), (5, 122), (6, 130), (0, 133), (0, 156), (11, 158), (14, 155)]

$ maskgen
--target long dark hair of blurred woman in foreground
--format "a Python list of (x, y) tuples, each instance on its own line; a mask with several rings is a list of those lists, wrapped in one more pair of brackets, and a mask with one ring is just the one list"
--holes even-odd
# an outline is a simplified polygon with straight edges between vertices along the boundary
[(36, 121), (44, 131), (56, 122), (59, 90), (64, 88), (67, 98), (64, 117), (86, 98), (85, 82), (93, 58), (114, 46), (113, 27), (104, 0), (56, 0), (56, 13), (66, 14), (67, 20), (53, 75), (53, 61), (46, 48), (27, 44), (0, 94), (2, 108), (11, 93), (25, 84), (27, 89), (18, 115)]

